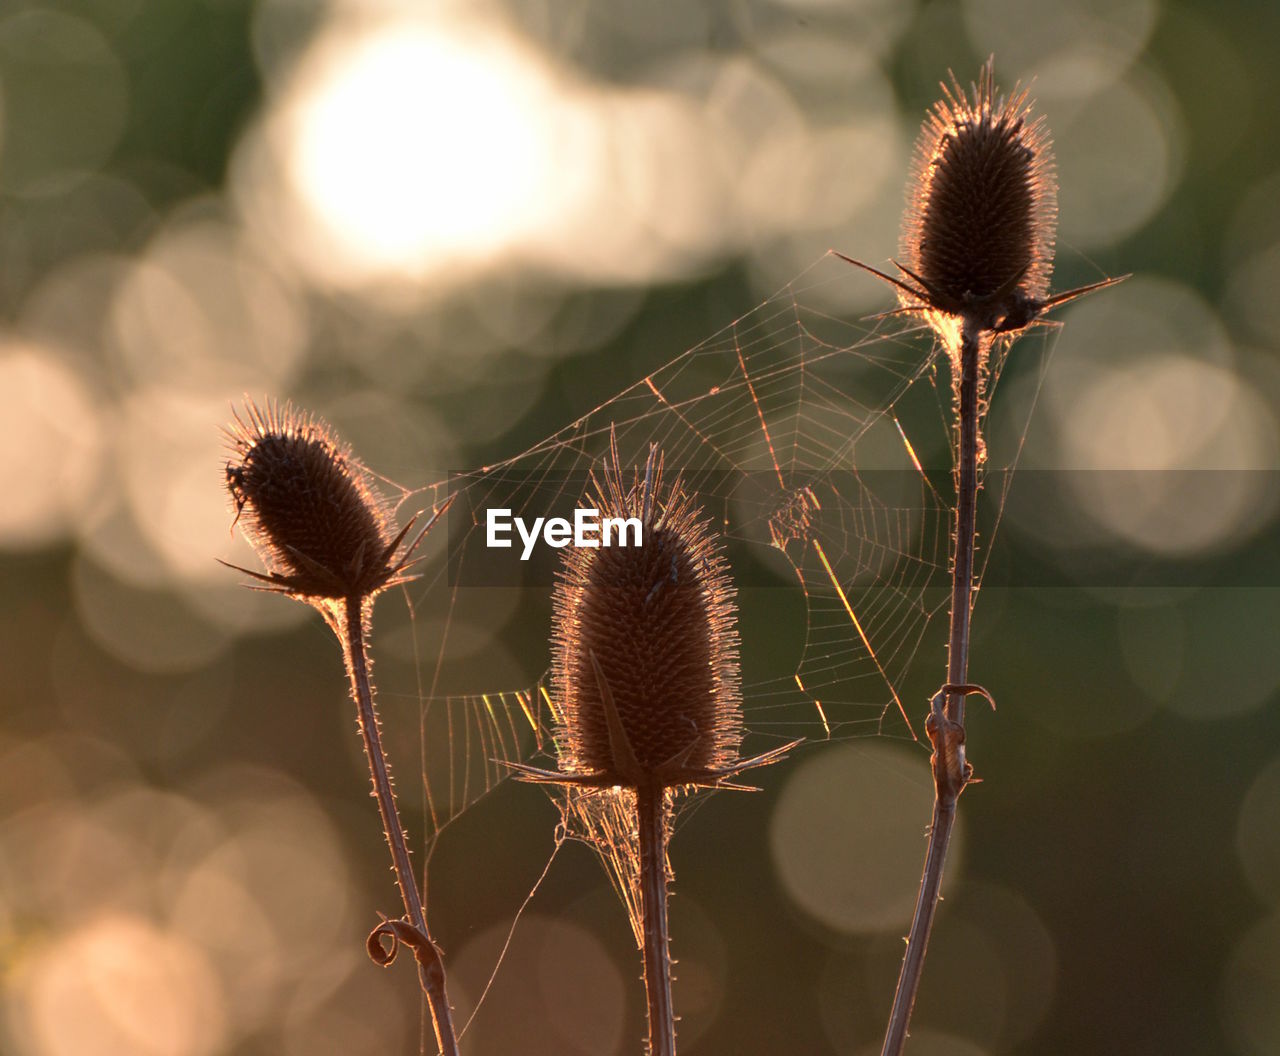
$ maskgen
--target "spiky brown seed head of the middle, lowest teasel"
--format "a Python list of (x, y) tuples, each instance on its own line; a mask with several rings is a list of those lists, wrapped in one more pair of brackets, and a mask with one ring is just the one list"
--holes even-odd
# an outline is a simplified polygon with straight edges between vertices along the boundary
[(559, 769), (604, 785), (710, 782), (742, 740), (728, 563), (681, 483), (663, 488), (655, 452), (630, 488), (616, 461), (593, 484), (602, 520), (639, 518), (643, 545), (566, 550), (552, 632)]

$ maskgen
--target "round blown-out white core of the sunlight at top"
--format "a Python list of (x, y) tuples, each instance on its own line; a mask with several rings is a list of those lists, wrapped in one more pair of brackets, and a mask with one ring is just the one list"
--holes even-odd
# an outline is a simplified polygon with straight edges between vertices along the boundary
[(298, 92), (291, 179), (374, 268), (484, 256), (554, 178), (545, 74), (492, 33), (384, 26), (321, 52)]

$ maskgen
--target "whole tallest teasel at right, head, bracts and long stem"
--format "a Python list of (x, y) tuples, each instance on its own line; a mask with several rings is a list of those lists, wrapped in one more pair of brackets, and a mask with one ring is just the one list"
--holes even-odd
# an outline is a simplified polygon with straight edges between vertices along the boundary
[(1123, 282), (1103, 279), (1050, 294), (1057, 227), (1057, 182), (1048, 131), (1025, 90), (998, 95), (988, 59), (966, 93), (951, 74), (924, 120), (908, 184), (900, 276), (840, 253), (890, 283), (899, 307), (887, 315), (923, 316), (951, 366), (956, 488), (951, 550), (951, 626), (947, 677), (929, 704), (925, 730), (933, 754), (933, 817), (924, 872), (906, 941), (882, 1056), (906, 1044), (911, 1009), (937, 910), (956, 803), (973, 780), (965, 753), (965, 698), (991, 694), (968, 681), (974, 600), (974, 544), (982, 422), (988, 408), (992, 349), (1012, 342), (1044, 315), (1085, 293)]

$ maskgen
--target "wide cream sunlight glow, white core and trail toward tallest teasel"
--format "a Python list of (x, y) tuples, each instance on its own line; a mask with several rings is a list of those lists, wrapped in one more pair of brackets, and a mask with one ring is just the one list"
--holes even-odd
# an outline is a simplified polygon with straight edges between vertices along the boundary
[[(644, 284), (742, 251), (772, 292), (896, 211), (905, 147), (870, 51), (768, 46), (620, 82), (492, 15), (339, 13), (278, 82), (232, 182), (282, 269), (383, 305), (521, 268)], [(861, 102), (806, 114), (819, 90)]]

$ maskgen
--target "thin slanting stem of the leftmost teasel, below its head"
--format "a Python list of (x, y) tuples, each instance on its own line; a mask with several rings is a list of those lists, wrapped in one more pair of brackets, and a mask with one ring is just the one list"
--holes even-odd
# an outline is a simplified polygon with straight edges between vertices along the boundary
[[(426, 929), (426, 914), (422, 911), (422, 899), (419, 895), (417, 881), (408, 856), (408, 844), (401, 827), (399, 813), (396, 809), (396, 792), (392, 788), (387, 755), (383, 751), (381, 735), (378, 727), (378, 712), (374, 708), (374, 694), (369, 681), (369, 658), (365, 654), (365, 599), (348, 598), (346, 609), (346, 649), (351, 692), (356, 698), (360, 714), (360, 733), (365, 741), (365, 755), (369, 758), (369, 773), (374, 781), (374, 796), (378, 799), (378, 812), (383, 815), (383, 831), (392, 851), (392, 864), (396, 869), (396, 883), (404, 900), (404, 914), (410, 923), (426, 938), (424, 948), (413, 952), (419, 957), (417, 975), (431, 1010), (431, 1024), (435, 1028), (435, 1043), (442, 1056), (457, 1056), (458, 1042), (453, 1030), (453, 1014), (449, 1010), (449, 997), (444, 986), (444, 964), (440, 951), (431, 941)], [(424, 964), (424, 960), (428, 961)]]

